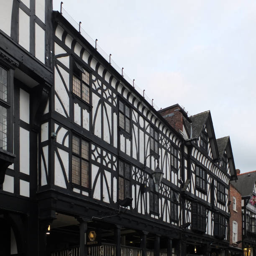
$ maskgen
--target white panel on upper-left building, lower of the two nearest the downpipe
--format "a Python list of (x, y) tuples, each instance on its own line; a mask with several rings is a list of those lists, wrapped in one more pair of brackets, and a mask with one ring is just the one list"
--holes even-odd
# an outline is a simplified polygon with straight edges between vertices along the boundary
[(45, 64), (45, 31), (37, 24), (35, 26), (35, 56)]

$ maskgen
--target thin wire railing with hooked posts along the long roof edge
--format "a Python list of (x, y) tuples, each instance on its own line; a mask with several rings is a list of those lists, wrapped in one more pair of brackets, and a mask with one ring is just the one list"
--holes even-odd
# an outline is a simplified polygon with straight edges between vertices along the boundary
[(62, 7), (62, 2), (61, 2), (61, 10), (60, 10), (61, 15), (101, 54), (101, 56), (108, 61), (111, 66), (120, 74), (122, 75), (122, 77), (129, 83), (131, 84), (137, 92), (140, 93), (140, 95), (142, 95), (145, 100), (151, 104), (151, 106), (153, 108), (155, 108), (156, 110), (160, 110), (160, 108), (154, 103), (153, 99), (150, 99), (146, 93), (145, 90), (142, 90), (140, 87), (138, 87), (138, 85), (134, 82), (134, 79), (132, 80), (130, 77), (128, 77), (127, 74), (125, 74), (125, 72), (123, 72), (123, 68), (120, 68), (115, 61), (113, 61), (113, 59), (111, 58), (110, 60), (110, 54), (107, 54), (98, 44), (97, 44), (97, 39), (93, 40), (85, 31), (84, 29), (81, 27), (81, 22), (77, 22), (76, 20), (74, 20), (69, 13), (67, 13), (67, 11)]

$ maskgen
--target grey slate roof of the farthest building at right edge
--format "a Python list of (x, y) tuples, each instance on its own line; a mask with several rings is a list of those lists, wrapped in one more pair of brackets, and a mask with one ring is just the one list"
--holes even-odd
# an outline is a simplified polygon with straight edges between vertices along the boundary
[(230, 183), (241, 193), (242, 197), (250, 196), (256, 182), (256, 171), (237, 174), (237, 181)]

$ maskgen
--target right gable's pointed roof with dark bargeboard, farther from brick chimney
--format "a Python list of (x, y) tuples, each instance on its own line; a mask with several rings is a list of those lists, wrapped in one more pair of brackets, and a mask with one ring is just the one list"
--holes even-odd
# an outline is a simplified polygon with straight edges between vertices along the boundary
[(223, 137), (223, 138), (218, 138), (216, 140), (216, 142), (217, 142), (217, 146), (218, 146), (220, 159), (222, 159), (223, 154), (224, 154), (225, 151), (227, 153), (227, 160), (228, 160), (228, 165), (229, 165), (229, 169), (230, 169), (231, 180), (237, 179), (236, 167), (235, 167), (233, 151), (232, 151), (229, 136), (226, 136), (226, 137)]

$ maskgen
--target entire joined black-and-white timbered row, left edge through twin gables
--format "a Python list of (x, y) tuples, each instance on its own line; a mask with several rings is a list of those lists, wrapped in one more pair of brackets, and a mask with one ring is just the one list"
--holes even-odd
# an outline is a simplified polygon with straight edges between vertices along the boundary
[(51, 0), (0, 6), (0, 254), (224, 251), (236, 172), (210, 112), (156, 111)]

